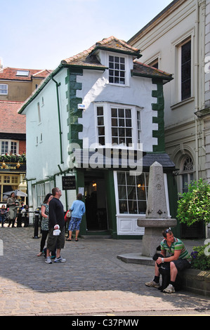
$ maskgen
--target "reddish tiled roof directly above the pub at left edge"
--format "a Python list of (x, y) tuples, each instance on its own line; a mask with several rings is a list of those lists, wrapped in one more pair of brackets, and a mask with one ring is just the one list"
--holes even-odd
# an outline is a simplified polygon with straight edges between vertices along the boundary
[(0, 132), (1, 133), (24, 133), (25, 116), (18, 114), (18, 110), (24, 102), (0, 100)]

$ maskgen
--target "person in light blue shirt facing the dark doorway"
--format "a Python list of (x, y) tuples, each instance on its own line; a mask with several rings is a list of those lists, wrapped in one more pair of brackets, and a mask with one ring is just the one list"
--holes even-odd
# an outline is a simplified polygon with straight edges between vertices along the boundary
[(67, 241), (72, 240), (72, 232), (75, 230), (75, 241), (78, 242), (79, 235), (79, 227), (81, 224), (82, 216), (85, 213), (85, 204), (82, 202), (82, 194), (77, 194), (77, 200), (72, 203), (70, 211), (72, 211), (72, 217), (70, 219), (69, 224), (69, 237), (66, 239)]

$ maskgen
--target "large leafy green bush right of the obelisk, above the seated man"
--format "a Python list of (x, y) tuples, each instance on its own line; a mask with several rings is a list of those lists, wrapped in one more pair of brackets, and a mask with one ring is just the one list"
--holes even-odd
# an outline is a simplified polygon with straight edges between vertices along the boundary
[(210, 222), (210, 185), (203, 179), (192, 181), (188, 192), (180, 194), (177, 218), (188, 226), (197, 221)]

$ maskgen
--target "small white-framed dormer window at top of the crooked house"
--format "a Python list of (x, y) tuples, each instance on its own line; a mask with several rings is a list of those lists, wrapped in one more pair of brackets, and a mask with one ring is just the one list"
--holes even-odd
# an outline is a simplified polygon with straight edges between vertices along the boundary
[(109, 82), (110, 84), (126, 83), (125, 58), (109, 56)]

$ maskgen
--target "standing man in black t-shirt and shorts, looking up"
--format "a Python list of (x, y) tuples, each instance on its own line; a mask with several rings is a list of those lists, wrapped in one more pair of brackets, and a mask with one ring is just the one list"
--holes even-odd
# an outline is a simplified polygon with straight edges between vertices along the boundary
[[(52, 263), (50, 251), (56, 249), (56, 258), (54, 263), (65, 263), (65, 259), (60, 256), (60, 250), (65, 244), (65, 220), (63, 204), (60, 202), (62, 192), (59, 188), (53, 188), (53, 199), (49, 203), (49, 231), (46, 247), (46, 263)], [(54, 230), (60, 230), (60, 235), (55, 234)], [(53, 233), (54, 232), (54, 233)]]

